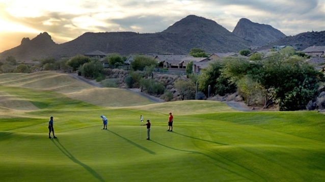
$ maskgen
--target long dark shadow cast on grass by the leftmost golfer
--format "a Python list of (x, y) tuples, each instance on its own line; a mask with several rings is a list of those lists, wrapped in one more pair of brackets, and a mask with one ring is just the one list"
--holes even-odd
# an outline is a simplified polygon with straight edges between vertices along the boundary
[(90, 174), (92, 174), (94, 177), (96, 177), (99, 181), (105, 181), (94, 169), (87, 166), (86, 164), (78, 161), (72, 154), (69, 153), (69, 151), (60, 143), (59, 139), (53, 139), (51, 140), (58, 148), (62, 151), (62, 153), (67, 156), (71, 161), (73, 161), (76, 164), (79, 164), (80, 166), (84, 167)]

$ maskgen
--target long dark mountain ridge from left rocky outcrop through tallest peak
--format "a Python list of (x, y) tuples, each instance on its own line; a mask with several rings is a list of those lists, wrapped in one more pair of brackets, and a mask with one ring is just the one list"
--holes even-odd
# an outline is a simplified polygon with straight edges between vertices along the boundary
[(29, 40), (23, 38), (22, 44), (0, 53), (5, 59), (13, 55), (18, 60), (30, 60), (44, 56), (70, 57), (95, 50), (105, 53), (174, 53), (188, 54), (194, 47), (212, 52), (238, 52), (251, 46), (251, 42), (235, 36), (215, 21), (189, 15), (165, 31), (155, 34), (133, 32), (85, 33), (78, 38), (56, 44), (45, 32)]

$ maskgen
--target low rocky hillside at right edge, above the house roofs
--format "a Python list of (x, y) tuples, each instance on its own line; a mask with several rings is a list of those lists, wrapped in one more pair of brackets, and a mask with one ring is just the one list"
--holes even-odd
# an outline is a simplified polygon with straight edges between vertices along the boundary
[(325, 31), (321, 32), (306, 32), (295, 36), (284, 37), (278, 41), (269, 43), (257, 50), (270, 49), (273, 46), (291, 45), (296, 50), (304, 50), (309, 46), (324, 46), (325, 45)]

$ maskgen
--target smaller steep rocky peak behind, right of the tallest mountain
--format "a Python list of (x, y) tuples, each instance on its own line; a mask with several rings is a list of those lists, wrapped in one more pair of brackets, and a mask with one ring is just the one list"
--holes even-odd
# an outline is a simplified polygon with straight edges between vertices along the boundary
[(232, 33), (242, 39), (251, 41), (254, 46), (263, 46), (286, 37), (286, 35), (270, 25), (254, 23), (246, 18), (241, 18), (238, 21)]

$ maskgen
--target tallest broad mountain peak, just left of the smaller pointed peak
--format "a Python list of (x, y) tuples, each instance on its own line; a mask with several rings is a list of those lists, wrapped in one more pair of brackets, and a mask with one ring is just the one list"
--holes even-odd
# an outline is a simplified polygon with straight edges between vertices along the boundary
[(252, 45), (215, 21), (195, 15), (189, 15), (174, 23), (160, 34), (169, 37), (174, 44), (181, 43), (187, 50), (198, 47), (209, 53), (238, 52)]

